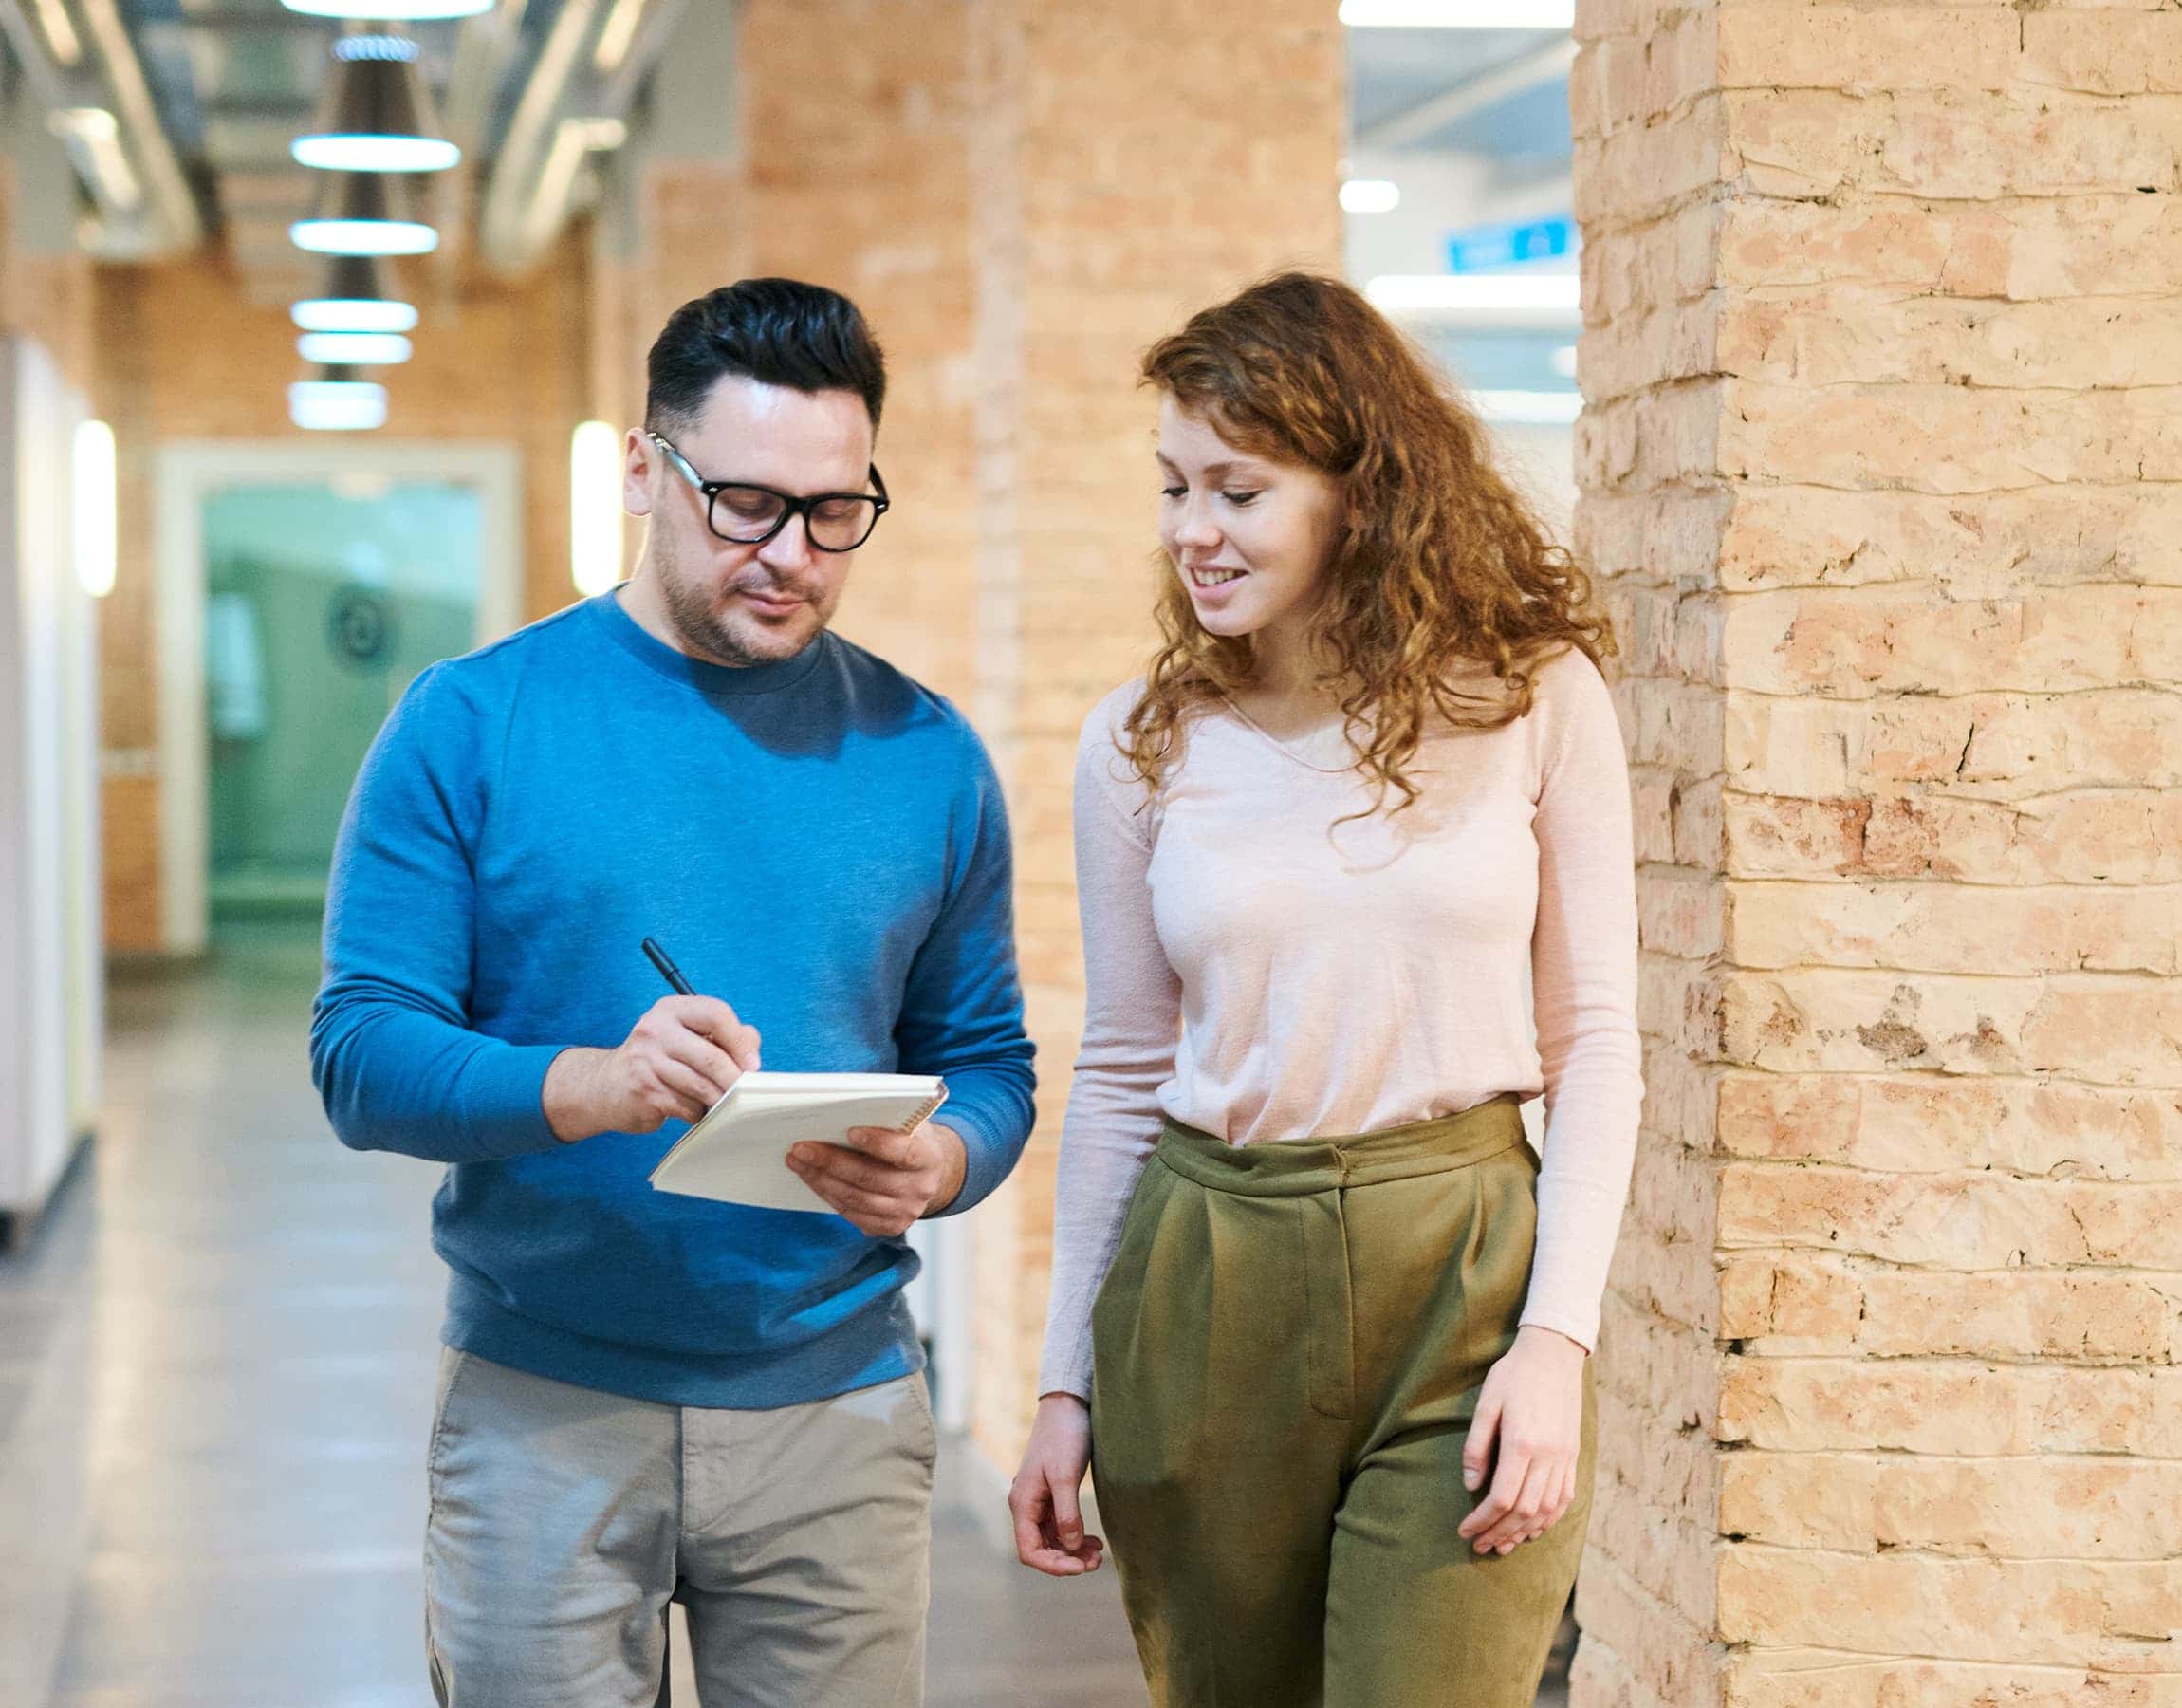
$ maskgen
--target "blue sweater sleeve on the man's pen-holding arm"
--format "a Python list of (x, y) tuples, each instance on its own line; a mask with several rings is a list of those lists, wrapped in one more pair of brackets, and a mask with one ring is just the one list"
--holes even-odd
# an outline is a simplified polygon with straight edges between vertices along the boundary
[(559, 1143), (543, 1108), (559, 1045), (469, 1030), (471, 851), (500, 750), (489, 722), (445, 665), (425, 670), (340, 820), (310, 1073), (351, 1150), (480, 1163)]

